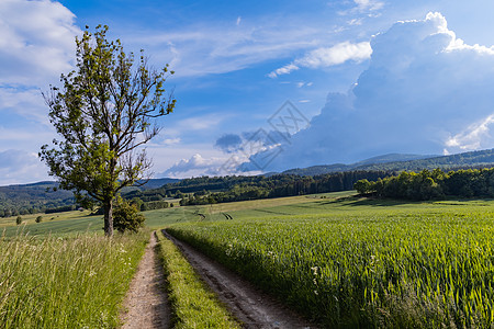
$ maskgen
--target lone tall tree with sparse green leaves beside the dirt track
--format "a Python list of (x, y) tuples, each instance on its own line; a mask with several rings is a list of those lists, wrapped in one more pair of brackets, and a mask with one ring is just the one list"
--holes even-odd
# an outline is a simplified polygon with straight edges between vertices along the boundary
[(61, 140), (44, 145), (40, 157), (58, 178), (60, 189), (75, 191), (83, 205), (104, 208), (104, 232), (113, 235), (113, 203), (120, 190), (146, 178), (150, 161), (141, 146), (160, 128), (157, 117), (173, 111), (176, 100), (164, 83), (170, 71), (149, 67), (125, 54), (120, 39), (106, 39), (108, 26), (76, 37), (76, 69), (61, 75), (61, 88), (43, 93), (49, 118)]

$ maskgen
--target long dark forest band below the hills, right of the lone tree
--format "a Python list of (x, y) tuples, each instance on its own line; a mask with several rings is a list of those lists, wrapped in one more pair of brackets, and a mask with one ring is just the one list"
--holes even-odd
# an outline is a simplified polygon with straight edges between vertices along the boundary
[(150, 202), (159, 197), (181, 198), (181, 205), (200, 205), (267, 197), (293, 196), (352, 190), (361, 179), (378, 180), (388, 171), (348, 171), (316, 177), (276, 174), (271, 177), (201, 177), (166, 184), (157, 190), (133, 191), (128, 200)]

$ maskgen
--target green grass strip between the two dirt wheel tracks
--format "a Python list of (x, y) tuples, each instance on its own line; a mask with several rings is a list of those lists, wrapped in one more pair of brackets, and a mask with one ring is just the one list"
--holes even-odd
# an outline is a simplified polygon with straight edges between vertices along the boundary
[(160, 230), (157, 237), (168, 282), (173, 328), (240, 328), (173, 242)]

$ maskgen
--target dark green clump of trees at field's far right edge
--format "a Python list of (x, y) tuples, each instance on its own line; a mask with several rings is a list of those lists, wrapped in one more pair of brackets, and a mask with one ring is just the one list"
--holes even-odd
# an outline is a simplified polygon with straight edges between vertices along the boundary
[(457, 170), (440, 169), (418, 173), (403, 171), (400, 175), (369, 182), (360, 180), (355, 189), (362, 194), (405, 200), (445, 197), (494, 197), (494, 168)]

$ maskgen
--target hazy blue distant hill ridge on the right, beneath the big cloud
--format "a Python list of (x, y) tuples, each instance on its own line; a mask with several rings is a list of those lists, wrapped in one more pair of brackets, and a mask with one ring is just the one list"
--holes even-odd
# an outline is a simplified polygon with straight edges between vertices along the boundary
[(287, 174), (317, 175), (339, 171), (385, 170), (385, 171), (419, 171), (423, 169), (453, 170), (462, 168), (494, 167), (494, 149), (471, 151), (451, 156), (419, 156), (390, 154), (370, 158), (352, 164), (325, 164), (308, 168), (296, 168), (283, 171)]

